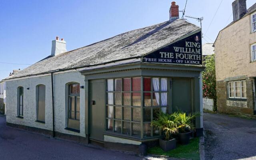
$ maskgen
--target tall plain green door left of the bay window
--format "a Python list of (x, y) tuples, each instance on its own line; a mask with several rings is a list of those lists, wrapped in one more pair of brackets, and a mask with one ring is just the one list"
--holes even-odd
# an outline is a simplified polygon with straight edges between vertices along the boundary
[(104, 142), (104, 80), (90, 80), (90, 140)]

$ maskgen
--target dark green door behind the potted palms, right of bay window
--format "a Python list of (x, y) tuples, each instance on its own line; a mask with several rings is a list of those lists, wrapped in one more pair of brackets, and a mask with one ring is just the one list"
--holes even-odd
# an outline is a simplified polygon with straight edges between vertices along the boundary
[(191, 102), (191, 79), (173, 78), (172, 79), (172, 112), (182, 110), (192, 111)]

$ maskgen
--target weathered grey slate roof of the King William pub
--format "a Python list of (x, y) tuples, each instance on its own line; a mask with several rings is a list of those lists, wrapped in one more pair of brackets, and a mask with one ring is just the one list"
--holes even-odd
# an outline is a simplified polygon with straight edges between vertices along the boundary
[(47, 57), (6, 79), (141, 57), (196, 31), (200, 31), (200, 27), (185, 20), (166, 21), (125, 32), (58, 56)]

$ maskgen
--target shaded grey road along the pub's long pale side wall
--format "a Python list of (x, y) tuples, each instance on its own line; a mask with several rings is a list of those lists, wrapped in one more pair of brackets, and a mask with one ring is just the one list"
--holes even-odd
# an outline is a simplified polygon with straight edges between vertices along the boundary
[(0, 160), (178, 160), (164, 157), (138, 157), (92, 145), (48, 138), (6, 126), (0, 115)]

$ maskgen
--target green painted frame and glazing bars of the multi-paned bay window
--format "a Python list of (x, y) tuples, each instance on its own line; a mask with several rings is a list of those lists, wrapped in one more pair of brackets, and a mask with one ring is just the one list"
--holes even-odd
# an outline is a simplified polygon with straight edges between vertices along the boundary
[[(130, 91), (124, 91), (123, 90), (123, 82), (125, 78), (131, 78), (131, 83), (130, 83)], [(132, 78), (140, 78), (140, 91), (132, 91)], [(144, 78), (151, 78), (150, 81), (150, 91), (143, 91), (143, 80)], [(153, 90), (153, 81), (152, 78), (159, 78), (159, 91), (154, 91)], [(167, 90), (166, 91), (161, 91), (161, 78), (167, 78)], [(108, 91), (108, 82), (107, 80), (113, 80), (113, 91)], [(121, 84), (121, 91), (115, 91), (115, 80), (116, 79), (122, 79), (122, 84)], [(170, 82), (171, 82), (171, 78), (168, 77), (156, 77), (156, 76), (134, 76), (134, 77), (120, 77), (120, 78), (107, 78), (105, 79), (105, 132), (109, 133), (109, 134), (118, 134), (119, 136), (128, 136), (131, 138), (140, 138), (140, 139), (146, 139), (146, 138), (156, 138), (162, 135), (161, 132), (159, 132), (158, 135), (154, 134), (154, 129), (150, 127), (150, 136), (145, 136), (144, 135), (144, 128), (145, 125), (150, 125), (150, 122), (153, 120), (153, 110), (154, 109), (160, 109), (161, 108), (166, 108), (166, 112), (171, 112), (171, 98), (170, 98), (170, 94), (171, 94), (171, 89), (170, 89)], [(113, 104), (108, 104), (108, 93), (113, 93)], [(115, 105), (115, 93), (121, 93), (122, 98), (121, 98), (121, 104), (122, 105)], [(130, 93), (130, 106), (124, 106), (123, 104), (123, 93)], [(140, 93), (140, 106), (132, 106), (132, 93)], [(151, 96), (151, 106), (144, 106), (144, 93), (150, 93)], [(153, 94), (154, 93), (159, 93), (159, 106), (153, 106)], [(161, 102), (161, 94), (162, 93), (167, 93), (167, 106), (162, 106), (162, 102)], [(108, 106), (113, 106), (113, 116), (112, 118), (108, 118)], [(117, 119), (115, 118), (115, 107), (121, 107), (121, 115), (122, 118), (121, 119)], [(124, 108), (130, 108), (130, 120), (124, 120)], [(140, 122), (137, 121), (133, 121), (132, 119), (132, 110), (133, 108), (140, 108)], [(150, 122), (144, 121), (144, 109), (150, 109)], [(108, 120), (112, 120), (112, 130), (108, 130)], [(121, 122), (121, 131), (120, 132), (115, 132), (115, 121), (120, 121)], [(123, 126), (124, 126), (124, 122), (128, 122), (130, 123), (130, 133), (129, 134), (124, 134), (123, 133)], [(132, 135), (132, 124), (139, 124), (140, 125), (140, 135), (139, 136), (133, 136)]]

